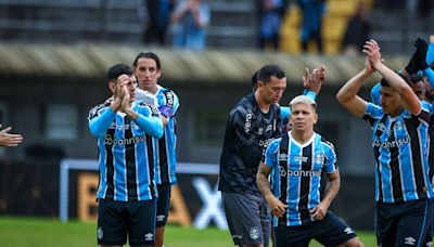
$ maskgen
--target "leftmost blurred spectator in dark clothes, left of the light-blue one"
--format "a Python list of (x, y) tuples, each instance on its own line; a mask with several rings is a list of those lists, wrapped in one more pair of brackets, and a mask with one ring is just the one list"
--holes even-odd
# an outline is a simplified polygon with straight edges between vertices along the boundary
[(154, 39), (159, 44), (166, 43), (166, 32), (170, 12), (176, 0), (138, 0), (137, 12), (143, 28), (142, 41), (146, 44)]

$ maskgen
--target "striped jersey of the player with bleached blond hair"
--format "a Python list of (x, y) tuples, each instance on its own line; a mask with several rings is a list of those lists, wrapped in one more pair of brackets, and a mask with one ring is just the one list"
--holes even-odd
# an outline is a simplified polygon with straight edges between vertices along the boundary
[(321, 202), (322, 171), (334, 173), (337, 169), (333, 145), (314, 133), (301, 144), (291, 132), (276, 139), (267, 147), (265, 165), (272, 168), (271, 188), (276, 197), (288, 205), (282, 218), (273, 216), (272, 224), (302, 225), (310, 222), (309, 210)]

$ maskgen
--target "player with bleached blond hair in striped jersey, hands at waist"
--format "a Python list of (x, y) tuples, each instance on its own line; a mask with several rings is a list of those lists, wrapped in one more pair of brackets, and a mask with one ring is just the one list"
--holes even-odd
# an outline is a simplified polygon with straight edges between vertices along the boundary
[(354, 231), (328, 210), (341, 179), (333, 145), (314, 131), (315, 101), (299, 95), (290, 106), (292, 130), (269, 144), (256, 178), (275, 216), (277, 246), (308, 246), (311, 239), (324, 246), (362, 246)]

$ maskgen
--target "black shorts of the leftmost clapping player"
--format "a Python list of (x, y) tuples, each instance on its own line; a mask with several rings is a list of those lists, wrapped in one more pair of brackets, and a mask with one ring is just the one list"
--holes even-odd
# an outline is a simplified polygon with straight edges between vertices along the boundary
[(129, 245), (155, 244), (156, 199), (115, 202), (99, 199), (98, 244)]

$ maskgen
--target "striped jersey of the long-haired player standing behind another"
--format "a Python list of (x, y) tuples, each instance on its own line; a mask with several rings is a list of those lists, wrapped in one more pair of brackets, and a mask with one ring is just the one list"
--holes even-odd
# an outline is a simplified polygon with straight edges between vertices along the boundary
[(158, 107), (166, 106), (166, 110), (170, 110), (170, 116), (166, 116), (167, 126), (164, 128), (162, 139), (154, 139), (155, 155), (155, 183), (170, 183), (177, 181), (176, 178), (176, 114), (179, 108), (179, 99), (174, 91), (157, 86), (156, 100)]

